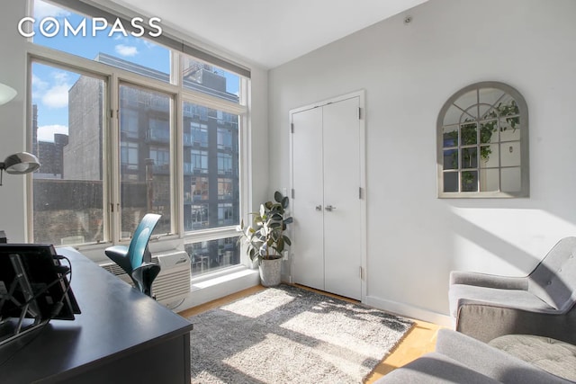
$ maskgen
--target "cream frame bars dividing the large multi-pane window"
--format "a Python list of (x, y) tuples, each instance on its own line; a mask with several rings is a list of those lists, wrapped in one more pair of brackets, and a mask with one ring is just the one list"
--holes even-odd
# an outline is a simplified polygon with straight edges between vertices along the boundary
[[(180, 73), (181, 56), (180, 52), (172, 50), (173, 66), (175, 73)], [(200, 58), (194, 58), (201, 60)], [(201, 60), (202, 61), (202, 60)], [(248, 129), (248, 105), (249, 96), (249, 78), (239, 76), (240, 81), (240, 100), (239, 103), (231, 103), (226, 100), (218, 99), (210, 94), (202, 94), (187, 88), (184, 88), (177, 78), (173, 79), (174, 83), (164, 83), (146, 76), (112, 67), (89, 58), (82, 58), (64, 51), (51, 49), (48, 47), (28, 42), (27, 47), (27, 66), (28, 66), (28, 97), (27, 97), (27, 131), (29, 146), (31, 147), (31, 67), (32, 63), (62, 68), (64, 70), (76, 71), (87, 76), (96, 76), (103, 78), (105, 82), (105, 102), (104, 120), (103, 120), (103, 167), (107, 169), (103, 174), (103, 210), (104, 224), (103, 229), (106, 237), (99, 243), (85, 243), (77, 245), (76, 248), (90, 253), (92, 250), (103, 250), (106, 246), (123, 244), (126, 245), (129, 239), (121, 239), (121, 219), (118, 213), (121, 201), (121, 180), (120, 180), (120, 120), (117, 112), (119, 109), (119, 87), (121, 84), (136, 85), (148, 89), (173, 95), (175, 121), (171, 133), (171, 169), (173, 181), (173, 191), (171, 192), (172, 202), (172, 228), (174, 233), (163, 235), (155, 238), (154, 244), (151, 245), (153, 251), (163, 251), (174, 249), (182, 244), (195, 243), (197, 241), (207, 241), (212, 239), (236, 237), (238, 233), (236, 226), (226, 228), (207, 228), (199, 231), (184, 231), (184, 164), (183, 164), (183, 105), (184, 103), (201, 104), (207, 108), (213, 108), (217, 111), (237, 114), (238, 120), (238, 183), (239, 183), (239, 210), (240, 217), (243, 212), (247, 211), (249, 181), (247, 165), (247, 129)], [(177, 77), (177, 76), (171, 76)], [(26, 216), (28, 218), (27, 233), (29, 238), (33, 238), (33, 196), (31, 193), (33, 180), (27, 178), (28, 205)], [(57, 245), (58, 246), (58, 245)], [(243, 255), (243, 253), (242, 253)], [(242, 256), (241, 263), (246, 263), (245, 257)]]

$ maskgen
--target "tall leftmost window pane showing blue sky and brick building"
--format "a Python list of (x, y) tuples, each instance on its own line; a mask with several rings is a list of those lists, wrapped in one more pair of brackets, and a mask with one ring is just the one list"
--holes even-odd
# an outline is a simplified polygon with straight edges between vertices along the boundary
[(109, 239), (103, 209), (102, 78), (32, 64), (31, 151), (37, 243), (70, 245)]

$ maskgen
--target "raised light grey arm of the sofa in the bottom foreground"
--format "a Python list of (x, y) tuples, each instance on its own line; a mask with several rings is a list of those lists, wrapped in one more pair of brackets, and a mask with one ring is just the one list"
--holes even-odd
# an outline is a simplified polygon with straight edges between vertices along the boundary
[(448, 329), (438, 331), (436, 352), (461, 362), (473, 371), (505, 383), (570, 382), (472, 337)]

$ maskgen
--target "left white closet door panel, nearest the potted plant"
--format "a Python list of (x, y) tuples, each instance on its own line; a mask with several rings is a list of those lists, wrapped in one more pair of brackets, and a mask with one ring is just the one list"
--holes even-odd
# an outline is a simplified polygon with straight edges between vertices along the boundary
[(322, 108), (293, 114), (293, 278), (324, 290)]

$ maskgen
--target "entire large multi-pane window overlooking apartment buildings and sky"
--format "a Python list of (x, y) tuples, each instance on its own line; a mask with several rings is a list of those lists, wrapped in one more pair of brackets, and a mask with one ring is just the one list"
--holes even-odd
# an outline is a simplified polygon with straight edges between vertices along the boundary
[[(42, 48), (30, 48), (31, 150), (41, 167), (31, 179), (31, 241), (126, 244), (155, 212), (154, 239), (180, 241), (193, 274), (238, 264), (246, 77), (220, 58), (184, 55), (181, 42), (160, 46), (111, 26), (92, 35), (93, 5), (33, 4), (29, 26)], [(46, 17), (79, 32), (43, 36)]]

